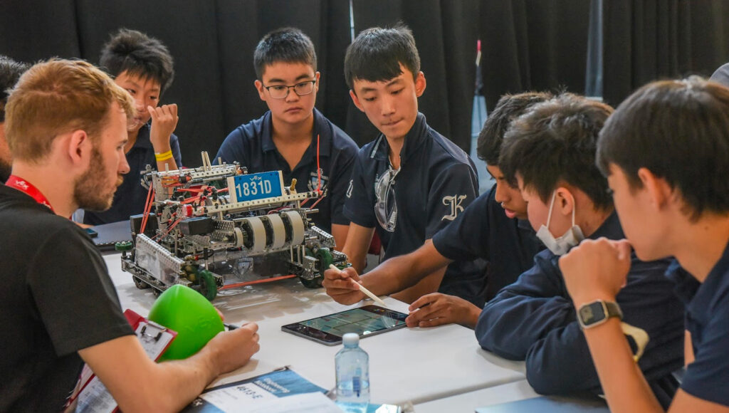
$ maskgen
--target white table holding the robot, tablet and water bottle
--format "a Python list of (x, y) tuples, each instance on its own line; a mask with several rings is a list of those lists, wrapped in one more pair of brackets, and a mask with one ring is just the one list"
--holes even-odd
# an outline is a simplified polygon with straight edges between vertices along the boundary
[[(122, 309), (146, 316), (155, 301), (151, 290), (138, 290), (123, 272), (120, 255), (106, 255)], [(394, 310), (408, 312), (407, 304), (385, 298)], [(256, 322), (261, 350), (243, 368), (215, 384), (233, 382), (291, 366), (311, 382), (335, 385), (334, 356), (340, 346), (328, 347), (281, 331), (281, 325), (339, 312), (355, 306), (332, 301), (321, 288), (303, 287), (297, 279), (252, 285), (213, 301), (227, 323)], [(370, 399), (373, 403), (421, 404), (451, 395), (524, 379), (523, 362), (504, 360), (482, 350), (473, 331), (461, 325), (403, 328), (367, 337), (362, 348), (370, 354)]]

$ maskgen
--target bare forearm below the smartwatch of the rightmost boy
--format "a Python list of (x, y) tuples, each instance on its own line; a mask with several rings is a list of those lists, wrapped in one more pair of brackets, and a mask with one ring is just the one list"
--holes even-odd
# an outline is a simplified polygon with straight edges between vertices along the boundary
[(593, 362), (611, 412), (663, 412), (620, 328), (620, 320), (585, 330)]

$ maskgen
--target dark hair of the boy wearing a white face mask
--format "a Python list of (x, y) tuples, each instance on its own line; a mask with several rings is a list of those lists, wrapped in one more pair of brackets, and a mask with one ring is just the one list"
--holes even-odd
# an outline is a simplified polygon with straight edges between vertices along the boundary
[(611, 113), (607, 104), (572, 93), (534, 105), (504, 136), (499, 158), (504, 177), (515, 182), (519, 174), (523, 188), (534, 189), (545, 204), (564, 181), (596, 208), (612, 207), (607, 180), (595, 164), (598, 134)]

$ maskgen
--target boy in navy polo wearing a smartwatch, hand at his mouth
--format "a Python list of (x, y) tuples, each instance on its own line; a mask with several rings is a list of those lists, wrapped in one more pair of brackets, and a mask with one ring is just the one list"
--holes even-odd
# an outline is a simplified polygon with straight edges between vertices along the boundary
[[(560, 259), (574, 307), (623, 307), (629, 256), (675, 257), (668, 277), (686, 304), (687, 368), (668, 411), (729, 412), (729, 89), (698, 77), (640, 88), (606, 123), (597, 162), (627, 240), (590, 240)], [(620, 320), (589, 321), (582, 333), (610, 410), (663, 412)]]

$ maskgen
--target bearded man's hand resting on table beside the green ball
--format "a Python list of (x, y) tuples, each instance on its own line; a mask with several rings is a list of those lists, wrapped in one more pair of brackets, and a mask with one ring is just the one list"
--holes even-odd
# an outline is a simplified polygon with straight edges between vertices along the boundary
[(222, 331), (208, 341), (206, 347), (213, 351), (219, 374), (244, 366), (260, 350), (257, 331), (256, 323), (246, 323), (235, 330)]

